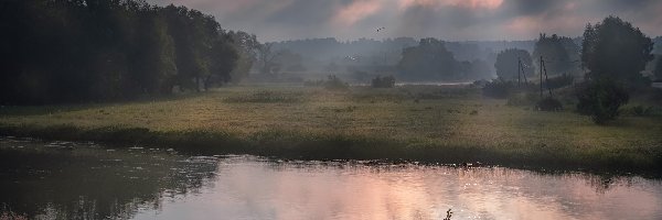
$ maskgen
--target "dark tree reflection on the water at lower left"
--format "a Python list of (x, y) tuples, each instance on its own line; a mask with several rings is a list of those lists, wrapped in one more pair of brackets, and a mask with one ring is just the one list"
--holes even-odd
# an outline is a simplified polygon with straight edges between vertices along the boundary
[(159, 210), (168, 197), (195, 194), (216, 172), (216, 161), (206, 157), (75, 148), (0, 148), (0, 213), (127, 219), (140, 208)]

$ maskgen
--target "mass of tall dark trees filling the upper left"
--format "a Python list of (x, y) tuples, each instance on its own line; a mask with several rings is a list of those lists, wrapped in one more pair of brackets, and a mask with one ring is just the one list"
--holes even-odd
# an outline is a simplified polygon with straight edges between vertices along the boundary
[(143, 0), (0, 2), (0, 105), (200, 91), (247, 74), (255, 35)]

